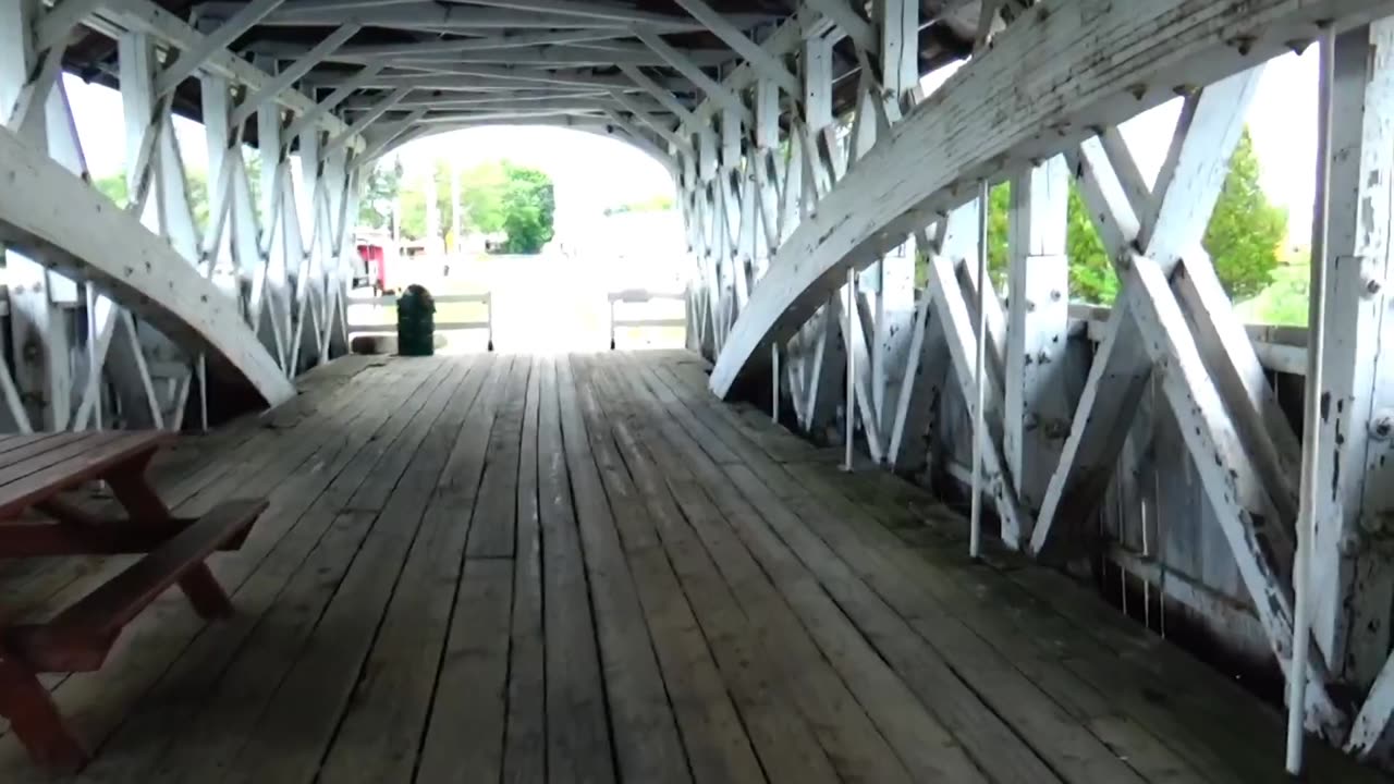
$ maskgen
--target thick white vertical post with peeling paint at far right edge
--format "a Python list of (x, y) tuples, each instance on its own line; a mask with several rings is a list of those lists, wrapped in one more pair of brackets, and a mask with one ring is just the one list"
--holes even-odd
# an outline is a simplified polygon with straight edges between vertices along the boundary
[[(1313, 635), (1334, 675), (1369, 686), (1390, 647), (1394, 569), (1394, 22), (1345, 32), (1331, 84), (1323, 460)], [(1316, 248), (1313, 247), (1313, 251)], [(1313, 264), (1320, 259), (1313, 258)]]

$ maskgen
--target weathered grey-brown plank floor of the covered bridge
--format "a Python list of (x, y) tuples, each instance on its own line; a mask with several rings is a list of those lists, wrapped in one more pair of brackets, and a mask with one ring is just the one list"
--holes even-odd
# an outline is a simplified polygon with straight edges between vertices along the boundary
[[(350, 357), (162, 465), (268, 495), (106, 668), (84, 781), (1281, 781), (1276, 711), (960, 522), (845, 476), (683, 353)], [(0, 564), (42, 614), (118, 561)], [(1313, 781), (1374, 776), (1315, 749)], [(0, 737), (0, 781), (42, 778)]]

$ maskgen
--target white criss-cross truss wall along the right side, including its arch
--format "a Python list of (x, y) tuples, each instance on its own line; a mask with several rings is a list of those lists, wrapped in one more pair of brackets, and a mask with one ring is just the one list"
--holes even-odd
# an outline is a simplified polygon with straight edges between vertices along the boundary
[[(1338, 384), (1333, 399), (1345, 403), (1323, 425), (1323, 448), (1340, 452), (1341, 466), (1358, 467), (1348, 467), (1324, 501), (1306, 716), (1309, 730), (1331, 741), (1386, 753), (1394, 735), (1387, 731), (1394, 663), (1386, 663), (1394, 580), (1381, 538), (1387, 504), (1379, 495), (1388, 483), (1373, 474), (1394, 441), (1394, 409), (1380, 402), (1388, 386), (1379, 371), (1387, 272), (1374, 265), (1388, 255), (1390, 205), (1381, 188), (1390, 155), (1384, 135), (1394, 124), (1383, 112), (1394, 82), (1383, 25), (1369, 28), (1373, 33), (1363, 25), (1394, 4), (1269, 0), (1203, 15), (1177, 13), (1178, 4), (994, 4), (980, 22), (977, 56), (940, 93), (910, 107), (919, 74), (898, 67), (896, 57), (917, 22), (905, 14), (917, 6), (877, 3), (867, 21), (855, 6), (809, 3), (797, 27), (790, 22), (764, 43), (771, 53), (799, 54), (803, 93), (785, 96), (786, 130), (767, 119), (781, 113), (767, 102), (785, 81), (754, 61), (719, 92), (705, 91), (708, 100), (682, 126), (698, 141), (693, 153), (679, 151), (682, 204), (701, 271), (691, 292), (693, 345), (715, 357), (711, 386), (721, 396), (737, 377), (753, 388), (767, 385), (760, 379), (774, 368), (781, 398), (815, 435), (846, 399), (839, 377), (855, 368), (852, 416), (866, 451), (913, 472), (927, 459), (934, 402), (945, 393), (976, 399), (973, 356), (986, 339), (984, 492), (1004, 543), (1050, 559), (1093, 545), (1080, 523), (1112, 478), (1128, 424), (1156, 374), (1287, 671), (1301, 444), (1200, 239), (1263, 61), (1313, 40), (1323, 25), (1354, 31), (1342, 38), (1340, 89), (1344, 116), (1363, 116), (1363, 128), (1345, 124), (1342, 149), (1356, 152), (1337, 156), (1347, 170), (1338, 172), (1344, 186), (1335, 193), (1347, 204), (1337, 199), (1335, 209), (1352, 225), (1334, 234), (1331, 296), (1347, 300), (1328, 318), (1345, 338), (1326, 360)], [(822, 25), (809, 22), (817, 18), (811, 10), (825, 14)], [(790, 28), (799, 31), (793, 42), (781, 36)], [(853, 40), (863, 66), (849, 124), (831, 116), (825, 66), (829, 40), (841, 35)], [(1147, 56), (1129, 54), (1138, 52)], [(744, 92), (750, 84), (756, 89)], [(1178, 93), (1186, 98), (1177, 134), (1149, 186), (1117, 124)], [(751, 99), (747, 113), (756, 121), (754, 144), (737, 163), (729, 155), (739, 151), (725, 144), (715, 155), (726, 123), (742, 116), (730, 96)], [(783, 155), (769, 153), (781, 148)], [(742, 176), (730, 179), (735, 172)], [(1122, 282), (1075, 410), (1062, 384), (1071, 177)], [(1011, 297), (1004, 304), (988, 289), (986, 335), (977, 329), (976, 294), (991, 280), (974, 275), (973, 197), (981, 180), (1012, 187)], [(928, 261), (919, 301), (910, 299), (909, 275), (899, 278), (892, 262), (907, 241)], [(852, 318), (841, 304), (849, 268), (861, 271), (864, 292)], [(1344, 695), (1348, 686), (1368, 688), (1381, 665), (1356, 718), (1359, 704)]]

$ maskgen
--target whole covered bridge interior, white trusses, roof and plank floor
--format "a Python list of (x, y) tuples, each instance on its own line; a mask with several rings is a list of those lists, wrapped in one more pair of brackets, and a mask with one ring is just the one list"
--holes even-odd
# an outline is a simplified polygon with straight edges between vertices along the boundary
[[(1383, 780), (1391, 14), (0, 0), (0, 780)], [(1255, 328), (1202, 239), (1309, 47), (1310, 319)], [(672, 174), (687, 350), (350, 354), (372, 166), (520, 124)], [(88, 446), (164, 431), (153, 501)]]

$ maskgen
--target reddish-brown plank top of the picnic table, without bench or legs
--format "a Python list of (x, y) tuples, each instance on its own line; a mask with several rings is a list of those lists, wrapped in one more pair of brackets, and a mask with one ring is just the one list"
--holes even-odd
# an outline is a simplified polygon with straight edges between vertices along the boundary
[(170, 444), (159, 430), (0, 435), (0, 520)]

